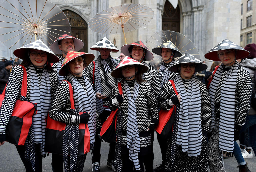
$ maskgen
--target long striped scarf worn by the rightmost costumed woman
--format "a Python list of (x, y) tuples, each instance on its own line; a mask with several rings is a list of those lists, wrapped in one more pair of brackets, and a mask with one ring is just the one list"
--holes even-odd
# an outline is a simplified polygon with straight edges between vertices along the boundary
[[(212, 124), (210, 131), (215, 126), (215, 93), (219, 85), (222, 75), (223, 63), (217, 69), (211, 85), (210, 85), (210, 100), (211, 100), (211, 117)], [(221, 85), (220, 93), (220, 125), (219, 125), (219, 148), (220, 150), (233, 152), (234, 149), (234, 121), (235, 121), (235, 92), (238, 73), (238, 62), (231, 66), (228, 74)]]

